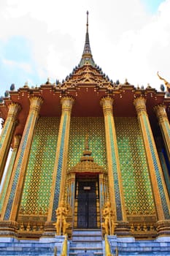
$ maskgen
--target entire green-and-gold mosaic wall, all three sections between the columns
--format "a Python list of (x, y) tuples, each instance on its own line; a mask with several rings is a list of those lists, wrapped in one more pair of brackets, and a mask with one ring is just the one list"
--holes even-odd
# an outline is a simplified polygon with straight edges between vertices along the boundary
[[(46, 215), (55, 162), (60, 118), (39, 118), (28, 159), (20, 213)], [(153, 214), (150, 178), (137, 118), (115, 118), (123, 192), (128, 214)], [(69, 169), (80, 162), (89, 135), (94, 161), (107, 170), (104, 118), (72, 117), (69, 136)]]

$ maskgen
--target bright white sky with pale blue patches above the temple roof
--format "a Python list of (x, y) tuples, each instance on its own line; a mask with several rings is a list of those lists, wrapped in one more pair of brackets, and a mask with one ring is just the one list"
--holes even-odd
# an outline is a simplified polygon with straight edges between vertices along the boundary
[(0, 95), (62, 80), (82, 56), (89, 11), (93, 59), (113, 81), (159, 90), (170, 80), (170, 0), (1, 0)]

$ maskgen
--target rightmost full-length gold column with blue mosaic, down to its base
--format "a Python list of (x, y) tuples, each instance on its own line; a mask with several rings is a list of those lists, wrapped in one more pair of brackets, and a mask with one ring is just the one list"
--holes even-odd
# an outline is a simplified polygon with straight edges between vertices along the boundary
[[(146, 149), (147, 164), (150, 171), (150, 179), (152, 183), (152, 192), (155, 199), (155, 208), (158, 216), (158, 223), (162, 223), (164, 231), (169, 229), (169, 222), (165, 224), (165, 219), (170, 219), (170, 203), (169, 196), (166, 190), (165, 181), (163, 179), (163, 172), (161, 163), (158, 158), (158, 152), (155, 146), (155, 141), (150, 127), (150, 121), (147, 116), (146, 99), (144, 97), (137, 97), (134, 99), (134, 105), (139, 118), (139, 124), (144, 140), (144, 147)], [(158, 232), (162, 230), (161, 225), (158, 225)]]

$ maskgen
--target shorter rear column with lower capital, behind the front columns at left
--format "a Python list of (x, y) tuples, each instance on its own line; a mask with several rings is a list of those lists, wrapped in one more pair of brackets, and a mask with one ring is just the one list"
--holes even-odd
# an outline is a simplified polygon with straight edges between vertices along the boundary
[(17, 152), (18, 152), (18, 147), (20, 145), (20, 138), (21, 138), (20, 135), (15, 135), (15, 137), (14, 137), (13, 151), (12, 151), (12, 154), (11, 154), (11, 157), (10, 157), (9, 165), (8, 165), (8, 168), (7, 168), (7, 174), (5, 176), (4, 184), (3, 184), (3, 187), (1, 189), (1, 194), (0, 194), (0, 213), (1, 213), (1, 208), (3, 207), (3, 204), (4, 204), (5, 195), (7, 193), (7, 189), (8, 189), (8, 186), (9, 186), (9, 180), (10, 180), (11, 175), (12, 175), (12, 168), (14, 166), (15, 158), (16, 158)]

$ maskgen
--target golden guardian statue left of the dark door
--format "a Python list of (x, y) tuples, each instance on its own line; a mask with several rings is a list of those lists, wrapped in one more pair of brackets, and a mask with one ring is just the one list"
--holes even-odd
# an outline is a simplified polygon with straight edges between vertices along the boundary
[(57, 222), (54, 224), (56, 227), (57, 236), (61, 236), (61, 233), (66, 235), (66, 228), (69, 227), (69, 223), (66, 222), (66, 216), (69, 210), (64, 205), (63, 200), (59, 202), (58, 208), (55, 210)]

